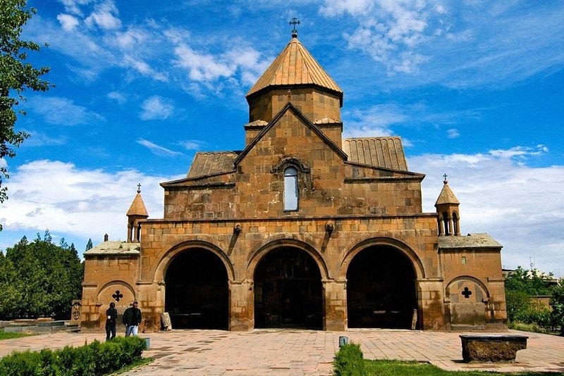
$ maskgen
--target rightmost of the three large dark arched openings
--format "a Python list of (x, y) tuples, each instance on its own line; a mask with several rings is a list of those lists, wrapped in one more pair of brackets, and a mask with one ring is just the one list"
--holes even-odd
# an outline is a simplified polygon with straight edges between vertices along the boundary
[(347, 270), (348, 327), (410, 329), (417, 308), (415, 270), (401, 251), (372, 246)]

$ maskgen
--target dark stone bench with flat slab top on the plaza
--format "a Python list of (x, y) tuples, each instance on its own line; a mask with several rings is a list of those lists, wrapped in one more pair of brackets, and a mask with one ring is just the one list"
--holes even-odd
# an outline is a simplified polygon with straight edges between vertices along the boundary
[(517, 351), (527, 349), (527, 336), (512, 334), (463, 334), (465, 362), (514, 362)]

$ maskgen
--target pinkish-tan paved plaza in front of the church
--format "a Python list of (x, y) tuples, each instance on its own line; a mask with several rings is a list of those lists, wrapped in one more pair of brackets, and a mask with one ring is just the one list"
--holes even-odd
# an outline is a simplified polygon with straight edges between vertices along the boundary
[[(155, 360), (145, 367), (121, 375), (331, 375), (339, 337), (360, 344), (366, 359), (422, 361), (446, 370), (498, 372), (562, 372), (564, 337), (530, 332), (527, 349), (517, 352), (515, 363), (462, 363), (461, 332), (410, 330), (173, 330), (140, 334), (149, 339), (144, 356)], [(474, 332), (474, 334), (476, 334)], [(481, 333), (485, 334), (485, 333)], [(123, 335), (121, 333), (120, 335)], [(45, 347), (82, 346), (102, 333), (42, 334), (0, 341), (0, 356), (13, 350), (32, 351)]]

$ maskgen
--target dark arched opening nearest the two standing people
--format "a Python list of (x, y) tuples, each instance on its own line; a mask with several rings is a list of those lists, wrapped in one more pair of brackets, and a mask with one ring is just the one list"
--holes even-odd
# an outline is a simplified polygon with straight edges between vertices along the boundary
[(225, 265), (206, 249), (178, 254), (166, 270), (164, 310), (173, 329), (227, 329), (228, 282)]

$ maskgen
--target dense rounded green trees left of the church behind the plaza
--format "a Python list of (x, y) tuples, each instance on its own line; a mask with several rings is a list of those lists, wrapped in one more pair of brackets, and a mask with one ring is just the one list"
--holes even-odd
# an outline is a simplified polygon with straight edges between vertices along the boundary
[(73, 244), (51, 243), (47, 230), (34, 242), (23, 237), (0, 258), (0, 317), (68, 318), (82, 291), (83, 265)]

